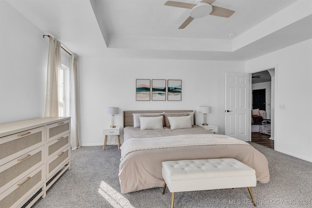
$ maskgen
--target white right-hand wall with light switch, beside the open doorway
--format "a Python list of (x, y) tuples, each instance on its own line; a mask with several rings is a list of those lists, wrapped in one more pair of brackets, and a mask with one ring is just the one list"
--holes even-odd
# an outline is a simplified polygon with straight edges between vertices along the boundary
[(246, 62), (246, 72), (275, 68), (275, 150), (312, 162), (312, 39)]

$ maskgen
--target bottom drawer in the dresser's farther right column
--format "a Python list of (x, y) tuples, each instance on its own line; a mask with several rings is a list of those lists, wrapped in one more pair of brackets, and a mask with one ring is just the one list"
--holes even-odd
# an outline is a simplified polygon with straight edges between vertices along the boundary
[(58, 153), (47, 161), (46, 164), (46, 179), (50, 180), (59, 169), (61, 169), (70, 159), (70, 146), (58, 151)]

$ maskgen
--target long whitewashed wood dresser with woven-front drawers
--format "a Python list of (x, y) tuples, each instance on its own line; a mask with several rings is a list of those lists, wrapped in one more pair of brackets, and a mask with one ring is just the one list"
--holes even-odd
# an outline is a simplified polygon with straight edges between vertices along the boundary
[(0, 125), (0, 207), (31, 207), (70, 169), (70, 118)]

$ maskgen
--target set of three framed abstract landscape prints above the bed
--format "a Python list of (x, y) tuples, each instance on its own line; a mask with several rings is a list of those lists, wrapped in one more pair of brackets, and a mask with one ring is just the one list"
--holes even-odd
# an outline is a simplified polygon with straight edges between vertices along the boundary
[[(166, 85), (167, 84), (167, 85)], [(137, 79), (136, 100), (181, 101), (182, 80), (180, 79)]]

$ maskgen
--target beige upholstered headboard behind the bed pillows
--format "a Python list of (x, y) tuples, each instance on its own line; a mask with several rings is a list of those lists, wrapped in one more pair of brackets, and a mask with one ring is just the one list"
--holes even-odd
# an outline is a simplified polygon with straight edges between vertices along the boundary
[(132, 113), (186, 113), (186, 112), (195, 112), (194, 113), (194, 124), (196, 125), (196, 111), (193, 110), (154, 110), (154, 111), (124, 111), (123, 112), (123, 127), (133, 126), (133, 115)]

